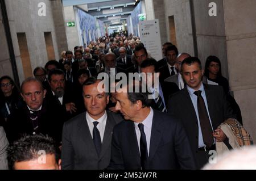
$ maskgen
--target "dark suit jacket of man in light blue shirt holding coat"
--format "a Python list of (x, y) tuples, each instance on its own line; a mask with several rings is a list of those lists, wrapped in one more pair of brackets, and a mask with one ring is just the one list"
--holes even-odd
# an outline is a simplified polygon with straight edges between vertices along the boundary
[[(204, 85), (205, 95), (207, 97), (210, 120), (212, 120), (213, 130), (216, 129), (225, 119), (235, 118), (230, 104), (226, 101), (224, 91), (220, 86)], [(199, 145), (198, 145), (198, 121), (195, 108), (189, 96), (187, 86), (183, 90), (172, 95), (168, 102), (168, 113), (171, 113), (183, 123), (187, 132), (189, 142), (192, 146), (193, 154), (197, 161), (197, 169), (203, 165), (200, 163)], [(205, 152), (206, 153), (206, 152)], [(205, 158), (205, 163), (208, 161)]]

